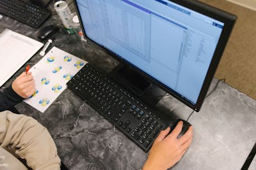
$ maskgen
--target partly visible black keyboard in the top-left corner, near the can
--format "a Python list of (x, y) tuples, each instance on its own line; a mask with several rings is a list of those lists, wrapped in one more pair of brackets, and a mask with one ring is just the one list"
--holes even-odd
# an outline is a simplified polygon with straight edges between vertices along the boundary
[(24, 0), (0, 0), (0, 13), (37, 28), (51, 15), (51, 11)]

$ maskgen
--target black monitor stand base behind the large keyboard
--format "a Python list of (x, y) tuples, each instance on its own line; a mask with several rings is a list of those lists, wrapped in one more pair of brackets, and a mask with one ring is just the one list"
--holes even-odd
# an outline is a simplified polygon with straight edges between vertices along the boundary
[(122, 64), (116, 66), (109, 73), (109, 77), (151, 107), (156, 106), (166, 94), (163, 89), (151, 83), (145, 76)]

